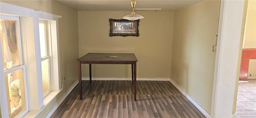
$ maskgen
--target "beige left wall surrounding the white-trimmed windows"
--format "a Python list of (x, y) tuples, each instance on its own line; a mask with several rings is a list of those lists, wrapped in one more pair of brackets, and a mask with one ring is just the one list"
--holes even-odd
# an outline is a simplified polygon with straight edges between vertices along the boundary
[(61, 96), (66, 94), (70, 86), (78, 79), (76, 59), (78, 58), (78, 15), (77, 11), (50, 0), (8, 0), (2, 1), (17, 6), (41, 10), (62, 16), (59, 18), (59, 46), (60, 46), (60, 75), (66, 75), (67, 80), (64, 83), (63, 90), (56, 99), (49, 103), (38, 117), (44, 117), (52, 109)]

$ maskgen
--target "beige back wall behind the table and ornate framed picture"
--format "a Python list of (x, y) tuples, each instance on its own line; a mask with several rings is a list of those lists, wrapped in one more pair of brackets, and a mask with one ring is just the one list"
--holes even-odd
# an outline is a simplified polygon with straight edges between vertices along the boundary
[[(174, 12), (138, 12), (139, 37), (109, 36), (109, 19), (130, 12), (78, 11), (79, 57), (88, 52), (135, 53), (138, 78), (170, 78)], [(88, 64), (82, 65), (88, 77)], [(95, 78), (131, 78), (130, 65), (92, 65)]]

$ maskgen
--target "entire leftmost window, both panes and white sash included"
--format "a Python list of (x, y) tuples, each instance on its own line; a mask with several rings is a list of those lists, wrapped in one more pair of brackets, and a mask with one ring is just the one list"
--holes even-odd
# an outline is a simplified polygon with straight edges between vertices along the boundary
[[(3, 16), (0, 19), (1, 38), (1, 96), (7, 103), (10, 118), (28, 111), (26, 98), (26, 66), (23, 64), (20, 21), (18, 17)], [(3, 83), (4, 84), (3, 84)], [(2, 90), (4, 88), (4, 90)], [(4, 92), (5, 91), (5, 92)]]

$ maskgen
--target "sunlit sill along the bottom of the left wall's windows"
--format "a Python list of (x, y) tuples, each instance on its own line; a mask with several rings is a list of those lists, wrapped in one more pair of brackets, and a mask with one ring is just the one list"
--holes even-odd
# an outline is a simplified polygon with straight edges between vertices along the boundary
[(23, 116), (23, 118), (35, 118), (61, 91), (62, 89), (50, 92), (46, 97), (44, 97), (44, 106), (42, 106), (42, 108), (39, 110), (29, 111), (25, 116)]

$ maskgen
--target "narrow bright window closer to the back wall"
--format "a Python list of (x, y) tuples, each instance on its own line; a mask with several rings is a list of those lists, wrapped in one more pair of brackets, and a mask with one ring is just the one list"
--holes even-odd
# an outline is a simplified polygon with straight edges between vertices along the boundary
[(51, 50), (50, 50), (50, 32), (49, 22), (46, 20), (39, 21), (39, 36), (41, 50), (41, 66), (42, 66), (42, 84), (43, 94), (46, 96), (51, 92)]

